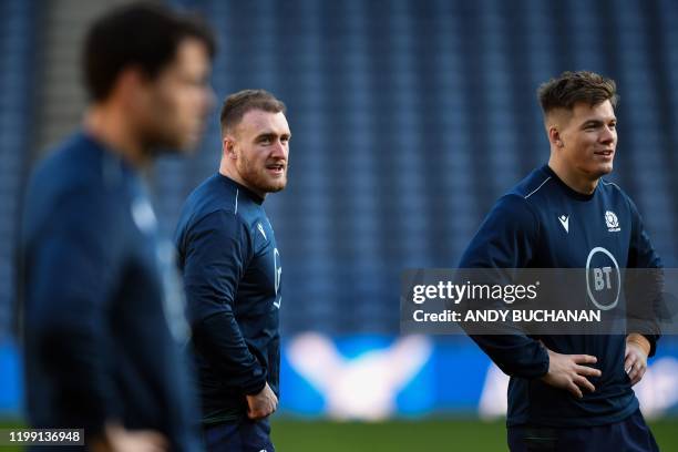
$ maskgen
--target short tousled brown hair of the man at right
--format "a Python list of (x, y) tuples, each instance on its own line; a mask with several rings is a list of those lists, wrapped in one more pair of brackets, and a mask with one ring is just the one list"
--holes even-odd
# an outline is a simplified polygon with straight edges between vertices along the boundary
[(595, 72), (563, 72), (558, 78), (543, 83), (537, 90), (537, 97), (544, 114), (554, 109), (572, 110), (577, 102), (593, 106), (609, 101), (616, 107), (619, 99), (616, 90), (614, 80)]

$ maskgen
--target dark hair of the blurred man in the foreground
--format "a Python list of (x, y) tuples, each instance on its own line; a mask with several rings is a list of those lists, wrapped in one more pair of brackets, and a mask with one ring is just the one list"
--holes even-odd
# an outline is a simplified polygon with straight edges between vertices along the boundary
[(174, 60), (187, 38), (202, 41), (209, 58), (214, 58), (212, 30), (196, 17), (151, 2), (109, 11), (92, 24), (84, 42), (83, 70), (91, 97), (106, 99), (120, 73), (131, 65), (154, 79)]

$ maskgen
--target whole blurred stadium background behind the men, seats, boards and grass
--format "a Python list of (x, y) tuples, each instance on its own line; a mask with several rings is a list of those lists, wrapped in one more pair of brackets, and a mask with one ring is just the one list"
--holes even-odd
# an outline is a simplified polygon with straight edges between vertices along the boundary
[[(8, 422), (22, 417), (12, 263), (23, 186), (79, 125), (81, 40), (117, 3), (0, 0)], [(617, 81), (612, 179), (635, 199), (666, 266), (678, 265), (678, 2), (170, 3), (214, 25), (219, 100), (264, 88), (288, 106), (289, 184), (265, 204), (284, 268), (280, 450), (505, 450), (506, 378), (464, 337), (399, 336), (400, 273), (454, 267), (494, 201), (547, 161), (535, 90), (562, 71)], [(166, 235), (186, 195), (216, 172), (217, 116), (218, 105), (194, 158), (163, 160), (148, 174)], [(678, 338), (661, 340), (636, 392), (660, 445), (678, 450)]]

